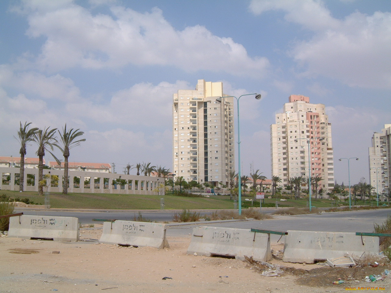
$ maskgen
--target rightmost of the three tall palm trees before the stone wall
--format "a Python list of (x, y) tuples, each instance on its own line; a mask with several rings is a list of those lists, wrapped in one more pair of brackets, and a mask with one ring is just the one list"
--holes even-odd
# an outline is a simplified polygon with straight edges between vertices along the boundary
[[(79, 131), (80, 129), (69, 129), (66, 130), (66, 124), (63, 128), (63, 132), (58, 131), (60, 135), (60, 143), (61, 145), (57, 145), (57, 147), (61, 150), (64, 155), (64, 179), (63, 179), (63, 194), (68, 194), (68, 157), (70, 155), (69, 150), (80, 145), (81, 141), (86, 141), (85, 138), (75, 140), (79, 136), (84, 134), (83, 131)], [(61, 163), (58, 162), (61, 166)]]

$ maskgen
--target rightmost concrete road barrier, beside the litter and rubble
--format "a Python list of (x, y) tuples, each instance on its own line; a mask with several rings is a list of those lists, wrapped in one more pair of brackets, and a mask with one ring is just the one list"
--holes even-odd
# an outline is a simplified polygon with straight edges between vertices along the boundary
[(361, 257), (379, 253), (377, 236), (356, 236), (345, 232), (287, 231), (283, 261), (308, 263), (340, 256)]

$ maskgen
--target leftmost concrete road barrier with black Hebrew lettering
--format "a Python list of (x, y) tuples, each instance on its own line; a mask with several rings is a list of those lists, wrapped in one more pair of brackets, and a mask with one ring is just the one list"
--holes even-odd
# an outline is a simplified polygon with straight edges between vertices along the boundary
[(57, 216), (15, 216), (9, 219), (8, 237), (78, 241), (79, 219)]

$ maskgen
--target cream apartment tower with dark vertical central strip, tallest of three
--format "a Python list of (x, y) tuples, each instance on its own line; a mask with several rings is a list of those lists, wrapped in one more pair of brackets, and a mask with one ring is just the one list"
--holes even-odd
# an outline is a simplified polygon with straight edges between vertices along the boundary
[[(173, 95), (172, 170), (187, 181), (228, 184), (235, 169), (233, 98), (222, 82), (198, 80), (195, 90)], [(222, 102), (216, 99), (223, 97)]]

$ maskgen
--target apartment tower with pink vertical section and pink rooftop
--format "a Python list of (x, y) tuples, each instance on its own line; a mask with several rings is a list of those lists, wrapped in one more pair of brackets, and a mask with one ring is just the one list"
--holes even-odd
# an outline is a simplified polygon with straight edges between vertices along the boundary
[(325, 105), (310, 104), (307, 96), (289, 96), (283, 113), (276, 114), (276, 123), (270, 126), (270, 136), (272, 175), (281, 178), (281, 185), (287, 186), (292, 177), (308, 177), (310, 162), (311, 176), (322, 178), (318, 189), (323, 188), (326, 194), (334, 188), (331, 123), (325, 114)]

